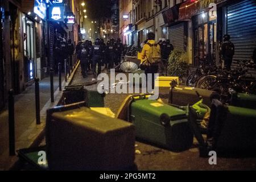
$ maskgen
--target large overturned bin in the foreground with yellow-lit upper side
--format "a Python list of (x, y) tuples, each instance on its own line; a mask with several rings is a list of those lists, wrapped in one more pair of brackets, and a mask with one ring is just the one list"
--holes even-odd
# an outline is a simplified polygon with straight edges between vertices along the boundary
[(50, 170), (129, 170), (135, 159), (135, 127), (81, 104), (47, 111)]

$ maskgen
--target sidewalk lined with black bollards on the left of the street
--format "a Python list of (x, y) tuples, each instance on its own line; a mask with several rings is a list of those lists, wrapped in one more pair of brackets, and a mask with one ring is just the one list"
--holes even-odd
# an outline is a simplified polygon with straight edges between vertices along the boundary
[[(77, 65), (78, 67), (79, 65)], [(76, 69), (75, 71), (76, 72)], [(69, 85), (74, 73), (69, 77), (68, 82), (62, 78), (62, 86)], [(15, 150), (27, 148), (34, 145), (36, 140), (43, 135), (46, 110), (59, 102), (62, 92), (59, 91), (59, 77), (54, 79), (55, 102), (51, 103), (50, 78), (40, 81), (40, 115), (41, 125), (36, 125), (35, 111), (35, 84), (29, 86), (23, 93), (15, 96)], [(9, 156), (9, 125), (8, 110), (0, 113), (0, 170), (7, 170), (17, 161), (17, 157)], [(36, 145), (36, 144), (35, 144)]]

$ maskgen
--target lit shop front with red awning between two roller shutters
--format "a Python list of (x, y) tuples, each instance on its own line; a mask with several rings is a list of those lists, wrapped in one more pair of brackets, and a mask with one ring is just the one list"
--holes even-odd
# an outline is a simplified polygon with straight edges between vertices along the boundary
[(179, 8), (179, 20), (188, 22), (188, 36), (192, 40), (192, 64), (200, 60), (216, 61), (217, 55), (217, 13), (215, 3), (187, 1)]

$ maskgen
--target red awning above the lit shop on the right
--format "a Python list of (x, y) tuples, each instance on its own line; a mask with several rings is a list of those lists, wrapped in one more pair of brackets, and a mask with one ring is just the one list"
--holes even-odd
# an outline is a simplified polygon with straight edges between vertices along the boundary
[(191, 19), (193, 15), (196, 15), (200, 11), (200, 1), (190, 0), (180, 5), (179, 20)]

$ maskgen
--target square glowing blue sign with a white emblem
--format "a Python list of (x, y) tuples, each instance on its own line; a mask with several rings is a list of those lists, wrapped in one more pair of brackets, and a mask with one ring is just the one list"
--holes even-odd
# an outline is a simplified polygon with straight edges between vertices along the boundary
[(63, 4), (55, 4), (49, 7), (49, 21), (64, 22), (65, 7)]

